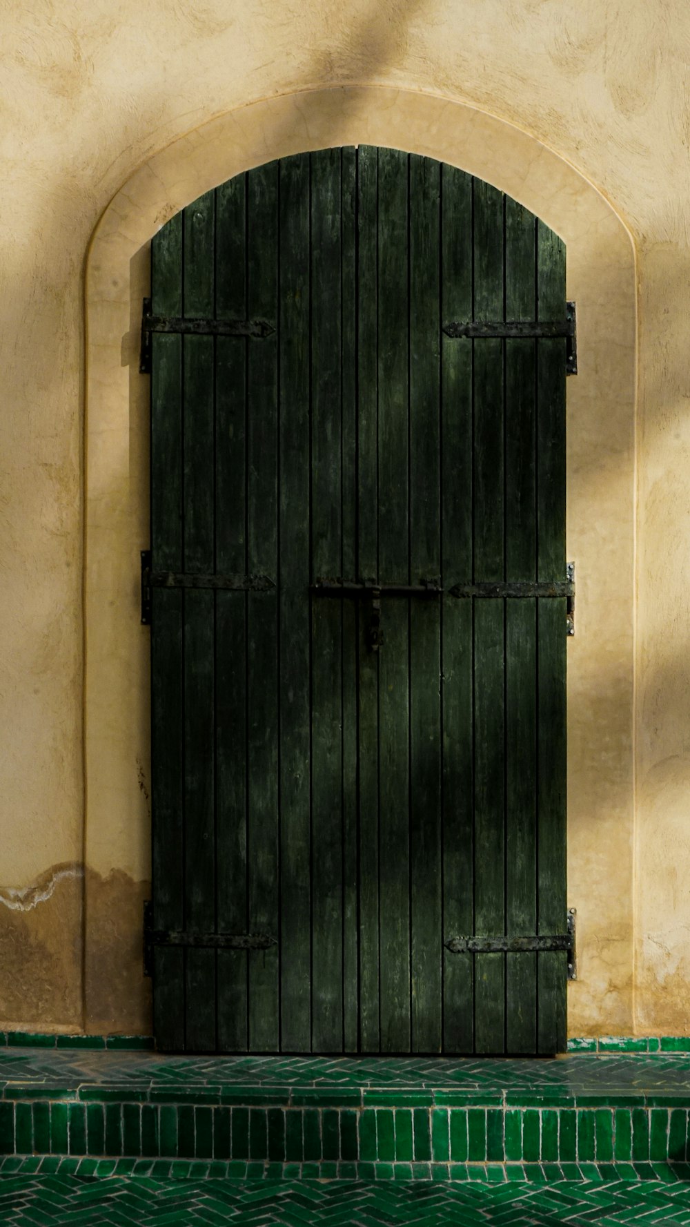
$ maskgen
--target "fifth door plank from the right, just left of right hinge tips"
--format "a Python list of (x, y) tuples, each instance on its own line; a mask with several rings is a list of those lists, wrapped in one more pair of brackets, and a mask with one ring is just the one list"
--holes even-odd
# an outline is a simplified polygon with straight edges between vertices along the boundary
[[(440, 166), (409, 158), (409, 577), (439, 578)], [(441, 1049), (440, 601), (409, 610), (412, 1050)], [(385, 650), (385, 649), (384, 649)]]

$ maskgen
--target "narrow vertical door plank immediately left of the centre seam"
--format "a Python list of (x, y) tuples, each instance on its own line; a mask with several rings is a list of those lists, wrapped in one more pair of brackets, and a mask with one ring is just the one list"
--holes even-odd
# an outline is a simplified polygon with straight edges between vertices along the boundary
[[(342, 574), (357, 579), (357, 150), (342, 150)], [(343, 1044), (358, 1048), (357, 610), (342, 607)]]

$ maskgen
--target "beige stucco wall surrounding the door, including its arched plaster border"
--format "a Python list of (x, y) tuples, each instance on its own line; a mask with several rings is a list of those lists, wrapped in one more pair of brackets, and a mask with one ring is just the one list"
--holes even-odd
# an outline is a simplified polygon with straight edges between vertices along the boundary
[(567, 243), (569, 1026), (686, 1033), (685, 5), (29, 0), (0, 36), (0, 1026), (150, 1026), (147, 243), (237, 171), (365, 141)]

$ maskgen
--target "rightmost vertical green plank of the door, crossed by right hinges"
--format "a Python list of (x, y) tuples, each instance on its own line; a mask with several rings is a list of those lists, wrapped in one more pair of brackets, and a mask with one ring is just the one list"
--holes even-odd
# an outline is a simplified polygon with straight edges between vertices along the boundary
[[(539, 319), (563, 319), (565, 248), (537, 225)], [(537, 342), (537, 566), (539, 579), (565, 573), (565, 341)], [(564, 933), (566, 921), (566, 670), (565, 601), (538, 612), (538, 933)], [(547, 733), (548, 730), (548, 740)], [(548, 745), (548, 756), (545, 747)], [(538, 955), (538, 1050), (566, 1045), (566, 955)]]

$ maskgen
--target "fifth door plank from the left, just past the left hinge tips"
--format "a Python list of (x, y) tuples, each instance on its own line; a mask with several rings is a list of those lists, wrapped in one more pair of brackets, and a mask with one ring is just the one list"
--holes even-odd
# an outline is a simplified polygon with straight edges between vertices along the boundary
[(309, 155), (281, 162), (281, 1047), (311, 1048)]

